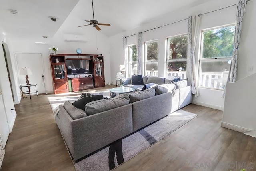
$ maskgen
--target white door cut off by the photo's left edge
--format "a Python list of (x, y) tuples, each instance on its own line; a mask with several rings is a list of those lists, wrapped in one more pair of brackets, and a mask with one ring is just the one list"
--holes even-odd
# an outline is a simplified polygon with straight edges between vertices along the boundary
[(6, 145), (9, 133), (10, 131), (8, 127), (6, 111), (4, 109), (4, 100), (3, 100), (2, 91), (0, 87), (0, 134), (3, 140), (4, 147)]

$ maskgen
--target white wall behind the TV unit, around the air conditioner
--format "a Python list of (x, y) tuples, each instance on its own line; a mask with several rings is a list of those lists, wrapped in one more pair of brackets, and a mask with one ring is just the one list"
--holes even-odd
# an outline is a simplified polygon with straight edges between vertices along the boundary
[[(52, 40), (50, 41), (49, 47), (56, 46), (58, 48), (57, 53), (59, 54), (76, 54), (76, 49), (80, 48), (82, 54), (102, 54), (104, 56), (104, 72), (105, 72), (105, 83), (110, 82), (110, 51), (109, 51), (109, 38), (106, 37), (101, 31), (97, 31), (96, 28), (91, 26), (78, 27), (81, 25), (88, 24), (84, 20), (79, 19), (78, 16), (81, 13), (79, 6), (86, 6), (86, 1), (79, 1), (74, 7), (70, 15), (66, 18), (62, 26), (58, 29)], [(87, 15), (87, 16), (91, 16)], [(85, 18), (89, 20), (90, 18)], [(104, 27), (100, 26), (103, 30)], [(87, 42), (65, 42), (64, 34), (83, 35), (87, 38)], [(97, 39), (96, 39), (97, 38)]]

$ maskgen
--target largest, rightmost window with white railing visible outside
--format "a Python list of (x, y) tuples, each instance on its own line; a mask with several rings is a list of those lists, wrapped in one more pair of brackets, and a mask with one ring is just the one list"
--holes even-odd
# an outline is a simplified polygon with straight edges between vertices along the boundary
[(199, 87), (224, 89), (234, 49), (235, 26), (203, 30)]

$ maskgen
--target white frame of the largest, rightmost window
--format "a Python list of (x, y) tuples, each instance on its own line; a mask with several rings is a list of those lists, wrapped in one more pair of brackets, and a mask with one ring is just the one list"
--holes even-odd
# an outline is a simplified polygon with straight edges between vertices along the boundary
[[(213, 90), (219, 90), (219, 91), (224, 91), (224, 87), (221, 88), (214, 88), (214, 87), (206, 87), (206, 86), (201, 86), (200, 83), (203, 82), (202, 79), (202, 66), (201, 63), (203, 61), (223, 61), (223, 60), (232, 60), (232, 55), (230, 57), (212, 57), (212, 58), (203, 58), (203, 49), (204, 49), (204, 37), (203, 37), (203, 32), (209, 31), (209, 30), (216, 30), (219, 28), (226, 28), (230, 26), (235, 26), (235, 24), (228, 24), (228, 25), (222, 25), (222, 26), (217, 26), (213, 28), (207, 28), (207, 29), (202, 29), (200, 30), (200, 40), (199, 40), (199, 59), (198, 59), (198, 87), (199, 88), (204, 88), (204, 89), (213, 89)], [(228, 68), (229, 70), (230, 68)]]

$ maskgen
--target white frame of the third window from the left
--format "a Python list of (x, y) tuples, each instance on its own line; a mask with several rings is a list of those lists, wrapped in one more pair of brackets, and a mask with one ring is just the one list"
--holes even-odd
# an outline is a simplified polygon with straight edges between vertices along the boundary
[[(165, 61), (165, 67), (166, 67), (165, 74), (166, 74), (166, 78), (171, 78), (171, 77), (179, 76), (179, 73), (175, 73), (174, 76), (168, 77), (168, 66), (167, 66), (168, 62), (187, 62), (186, 66), (188, 65), (188, 51), (189, 51), (189, 47), (188, 47), (189, 43), (188, 43), (188, 41), (187, 41), (187, 55), (186, 55), (186, 59), (182, 58), (182, 59), (171, 59), (171, 60), (169, 60), (169, 52), (168, 52), (169, 51), (169, 48), (168, 48), (169, 44), (168, 44), (168, 39), (176, 38), (176, 37), (180, 37), (180, 36), (187, 36), (187, 38), (188, 38), (188, 33), (178, 34), (178, 35), (174, 35), (174, 36), (169, 36), (169, 37), (166, 38), (166, 61)], [(187, 72), (187, 67), (186, 67), (186, 72)], [(186, 74), (184, 75), (184, 77), (181, 77), (181, 79), (185, 79), (185, 78), (186, 78)]]

